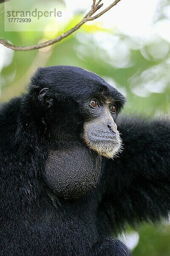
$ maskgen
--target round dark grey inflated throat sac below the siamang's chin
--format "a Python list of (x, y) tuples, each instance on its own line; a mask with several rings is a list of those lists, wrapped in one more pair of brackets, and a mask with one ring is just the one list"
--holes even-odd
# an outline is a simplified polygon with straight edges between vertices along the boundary
[(50, 151), (45, 168), (48, 185), (65, 199), (79, 198), (96, 186), (101, 157), (86, 146)]

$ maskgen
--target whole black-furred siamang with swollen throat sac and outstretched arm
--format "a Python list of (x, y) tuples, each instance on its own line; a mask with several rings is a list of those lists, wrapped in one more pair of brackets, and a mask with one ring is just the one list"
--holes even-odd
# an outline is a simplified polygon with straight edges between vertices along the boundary
[(170, 210), (170, 121), (78, 67), (38, 68), (0, 107), (0, 255), (130, 256), (112, 236)]

